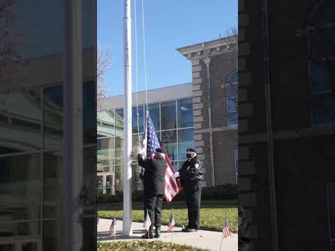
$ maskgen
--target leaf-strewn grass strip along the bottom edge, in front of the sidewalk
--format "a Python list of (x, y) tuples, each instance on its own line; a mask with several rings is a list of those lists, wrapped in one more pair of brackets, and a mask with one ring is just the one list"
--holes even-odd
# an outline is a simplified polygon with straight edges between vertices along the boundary
[(164, 243), (163, 241), (117, 241), (113, 243), (98, 243), (98, 251), (207, 251), (188, 245)]

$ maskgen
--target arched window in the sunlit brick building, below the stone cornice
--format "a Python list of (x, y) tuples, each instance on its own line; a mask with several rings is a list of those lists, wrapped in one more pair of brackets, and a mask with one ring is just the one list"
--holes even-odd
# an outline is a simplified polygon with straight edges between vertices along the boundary
[(237, 126), (238, 122), (238, 116), (237, 116), (238, 82), (239, 82), (239, 75), (237, 70), (234, 70), (228, 76), (226, 84), (228, 126)]

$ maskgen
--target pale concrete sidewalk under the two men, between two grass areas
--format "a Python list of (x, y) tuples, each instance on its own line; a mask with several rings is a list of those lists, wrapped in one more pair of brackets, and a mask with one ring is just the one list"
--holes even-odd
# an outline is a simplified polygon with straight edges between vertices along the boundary
[[(117, 221), (117, 235), (111, 236), (109, 229), (112, 220), (100, 219), (98, 224), (98, 241), (112, 242), (112, 241), (128, 241), (128, 240), (143, 240), (142, 234), (145, 230), (142, 227), (143, 223), (133, 222), (133, 236), (122, 236), (122, 221)], [(193, 233), (184, 233), (181, 227), (174, 227), (173, 237), (168, 233), (168, 227), (162, 226), (161, 238), (154, 240), (161, 240), (177, 244), (191, 245), (197, 248), (207, 248), (209, 250), (218, 251), (221, 243), (221, 232), (200, 230)], [(172, 239), (173, 238), (173, 239)], [(147, 240), (150, 241), (150, 240)], [(224, 238), (222, 244), (222, 251), (237, 251), (237, 234), (232, 234), (232, 237)]]

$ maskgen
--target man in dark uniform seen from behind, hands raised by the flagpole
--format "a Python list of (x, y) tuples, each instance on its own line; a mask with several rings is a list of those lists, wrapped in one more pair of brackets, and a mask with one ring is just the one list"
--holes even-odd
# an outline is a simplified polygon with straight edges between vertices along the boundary
[[(138, 165), (144, 168), (144, 207), (149, 213), (152, 222), (149, 228), (149, 235), (144, 234), (142, 238), (159, 238), (161, 235), (162, 224), (162, 204), (165, 191), (165, 171), (167, 162), (163, 149), (156, 149), (154, 158), (143, 159), (142, 155), (137, 155)], [(146, 213), (144, 213), (145, 216)], [(145, 217), (144, 217), (145, 218)], [(153, 226), (155, 225), (155, 236)]]

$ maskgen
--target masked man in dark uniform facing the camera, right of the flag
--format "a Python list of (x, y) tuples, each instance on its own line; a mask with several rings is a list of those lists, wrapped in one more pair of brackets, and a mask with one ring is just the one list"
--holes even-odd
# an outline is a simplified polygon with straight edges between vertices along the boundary
[(186, 162), (179, 170), (179, 179), (188, 209), (188, 225), (182, 229), (184, 232), (198, 231), (200, 225), (201, 200), (201, 163), (194, 149), (186, 149)]

